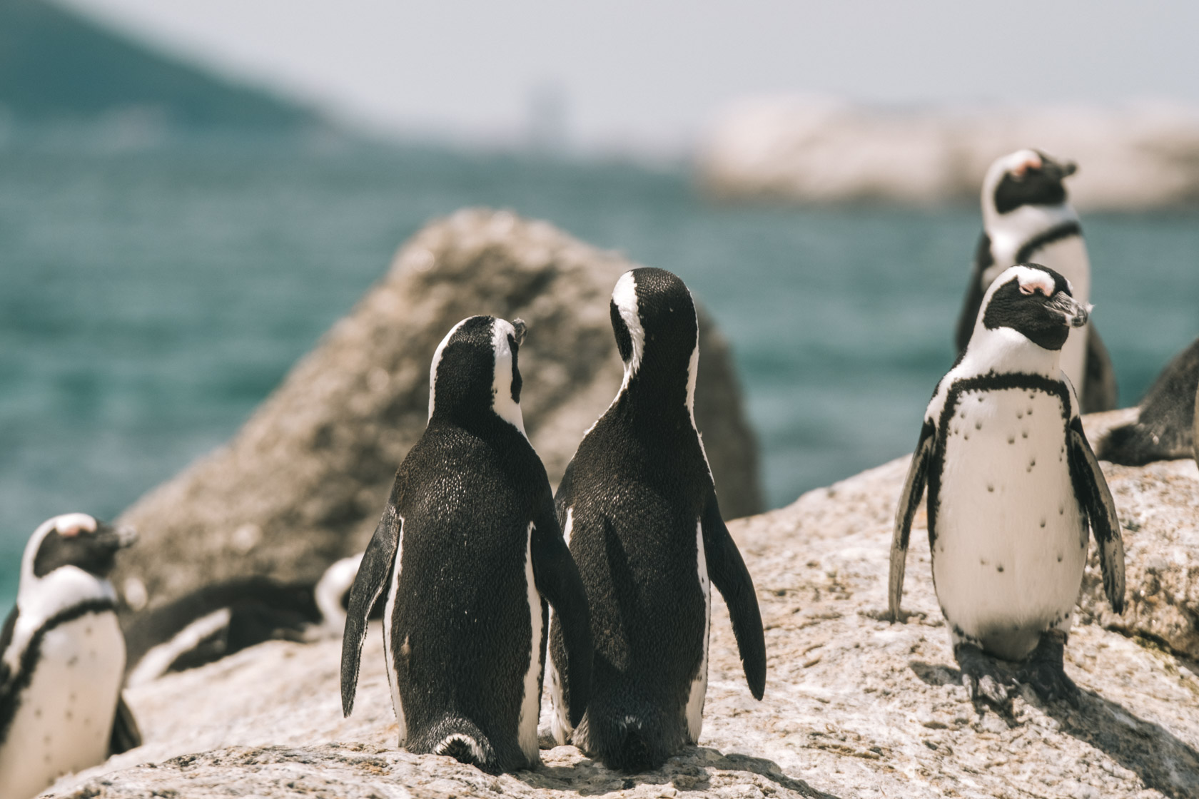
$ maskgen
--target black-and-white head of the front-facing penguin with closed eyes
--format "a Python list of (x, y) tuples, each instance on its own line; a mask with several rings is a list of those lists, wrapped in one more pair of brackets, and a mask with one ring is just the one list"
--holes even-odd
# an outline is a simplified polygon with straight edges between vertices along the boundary
[(1060, 350), (1070, 328), (1085, 325), (1087, 315), (1070, 282), (1038, 264), (1006, 270), (995, 278), (982, 307), (986, 329), (1011, 328), (1046, 350)]

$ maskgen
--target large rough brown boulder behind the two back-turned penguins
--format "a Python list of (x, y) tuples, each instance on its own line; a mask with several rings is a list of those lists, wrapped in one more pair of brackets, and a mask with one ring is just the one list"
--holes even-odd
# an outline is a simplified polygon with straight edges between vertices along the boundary
[[(633, 266), (502, 211), (430, 224), (228, 444), (122, 515), (141, 540), (115, 585), (137, 577), (157, 604), (215, 579), (315, 579), (364, 549), (396, 468), (424, 430), (433, 351), (472, 314), (529, 323), (522, 406), (556, 484), (620, 387), (608, 299)], [(697, 394), (724, 515), (761, 510), (729, 347), (703, 313)]]

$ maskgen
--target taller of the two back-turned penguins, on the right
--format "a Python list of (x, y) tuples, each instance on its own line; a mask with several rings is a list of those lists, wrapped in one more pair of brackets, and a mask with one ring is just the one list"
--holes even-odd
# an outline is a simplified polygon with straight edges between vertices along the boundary
[(596, 655), (582, 722), (550, 622), (550, 731), (611, 769), (656, 769), (699, 740), (707, 690), (710, 593), (724, 595), (749, 692), (766, 646), (753, 580), (721, 517), (695, 428), (695, 304), (664, 270), (637, 268), (609, 304), (625, 364), (620, 391), (584, 434), (555, 497), (591, 604)]

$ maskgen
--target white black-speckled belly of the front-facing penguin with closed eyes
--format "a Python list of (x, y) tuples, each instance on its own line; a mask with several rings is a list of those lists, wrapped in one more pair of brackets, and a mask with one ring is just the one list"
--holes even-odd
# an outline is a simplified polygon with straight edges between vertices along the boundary
[(1029, 389), (968, 392), (947, 428), (936, 598), (952, 628), (1019, 660), (1042, 631), (1070, 628), (1086, 562), (1061, 401)]

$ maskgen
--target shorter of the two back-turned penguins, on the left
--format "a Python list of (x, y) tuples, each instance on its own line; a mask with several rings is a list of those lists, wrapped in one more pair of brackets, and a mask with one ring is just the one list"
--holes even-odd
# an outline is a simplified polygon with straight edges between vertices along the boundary
[(586, 593), (520, 414), (524, 332), (520, 320), (471, 316), (438, 346), (428, 426), (396, 473), (342, 638), (349, 716), (367, 615), (385, 597), (399, 745), (489, 774), (541, 762), (547, 603), (566, 630), (576, 721), (591, 680)]

